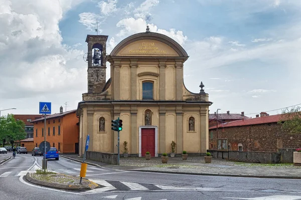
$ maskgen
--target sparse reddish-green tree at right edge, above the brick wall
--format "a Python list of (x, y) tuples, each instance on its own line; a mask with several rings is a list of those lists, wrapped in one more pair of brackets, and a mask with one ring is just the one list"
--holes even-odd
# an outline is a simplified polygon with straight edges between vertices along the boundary
[(289, 130), (291, 134), (301, 133), (301, 107), (297, 106), (282, 110), (278, 123), (282, 123), (282, 128)]

